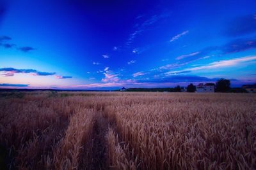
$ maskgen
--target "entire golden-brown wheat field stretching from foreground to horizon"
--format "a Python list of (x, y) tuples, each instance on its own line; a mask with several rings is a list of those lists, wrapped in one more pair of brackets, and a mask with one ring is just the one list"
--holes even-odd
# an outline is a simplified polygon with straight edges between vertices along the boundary
[(255, 94), (1, 92), (0, 169), (256, 169)]

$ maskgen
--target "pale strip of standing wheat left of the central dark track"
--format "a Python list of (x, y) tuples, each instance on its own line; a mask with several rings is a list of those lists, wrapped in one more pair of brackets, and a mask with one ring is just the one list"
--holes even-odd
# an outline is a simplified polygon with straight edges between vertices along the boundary
[(48, 162), (48, 167), (54, 163), (56, 169), (78, 168), (83, 143), (85, 143), (86, 138), (90, 138), (93, 121), (93, 110), (76, 111), (76, 114), (70, 119), (65, 137), (61, 139), (60, 146), (54, 152), (54, 161), (51, 164)]

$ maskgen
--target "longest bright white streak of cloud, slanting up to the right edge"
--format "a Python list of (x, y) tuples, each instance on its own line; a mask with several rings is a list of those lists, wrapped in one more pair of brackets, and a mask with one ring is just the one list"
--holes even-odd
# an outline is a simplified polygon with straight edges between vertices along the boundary
[(256, 60), (256, 56), (248, 56), (248, 57), (240, 57), (236, 59), (227, 59), (227, 60), (220, 60), (218, 62), (211, 62), (210, 64), (207, 64), (205, 66), (198, 66), (198, 67), (191, 67), (188, 69), (183, 69), (180, 71), (168, 71), (165, 74), (179, 74), (180, 72), (184, 71), (198, 71), (202, 69), (217, 69), (220, 67), (230, 67), (230, 66), (237, 66), (241, 64), (242, 62), (248, 62)]

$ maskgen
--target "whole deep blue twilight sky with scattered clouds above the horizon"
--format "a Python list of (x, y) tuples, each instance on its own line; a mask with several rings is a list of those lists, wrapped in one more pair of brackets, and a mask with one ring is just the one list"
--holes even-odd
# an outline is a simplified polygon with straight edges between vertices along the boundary
[(256, 82), (256, 1), (0, 0), (0, 88)]

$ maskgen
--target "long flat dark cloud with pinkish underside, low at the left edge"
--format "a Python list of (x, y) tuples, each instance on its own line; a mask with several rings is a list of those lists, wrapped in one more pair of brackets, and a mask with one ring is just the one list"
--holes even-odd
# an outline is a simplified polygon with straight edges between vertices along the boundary
[(3, 76), (13, 76), (15, 73), (32, 73), (35, 76), (49, 76), (56, 73), (42, 72), (35, 69), (15, 69), (12, 67), (0, 68), (0, 72), (4, 72)]

